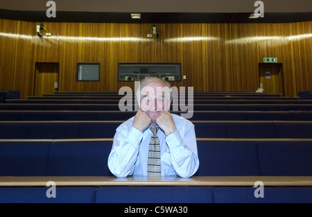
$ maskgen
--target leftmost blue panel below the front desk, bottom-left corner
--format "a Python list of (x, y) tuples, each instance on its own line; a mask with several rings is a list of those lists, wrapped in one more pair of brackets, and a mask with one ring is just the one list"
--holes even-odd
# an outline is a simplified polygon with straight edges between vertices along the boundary
[(0, 203), (93, 203), (96, 198), (94, 187), (56, 186), (56, 198), (48, 198), (48, 190), (49, 187), (1, 187)]

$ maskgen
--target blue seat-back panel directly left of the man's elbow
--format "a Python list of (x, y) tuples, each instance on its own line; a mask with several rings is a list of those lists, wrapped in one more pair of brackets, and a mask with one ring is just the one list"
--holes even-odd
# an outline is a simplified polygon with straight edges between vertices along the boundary
[(110, 175), (107, 159), (111, 149), (112, 141), (53, 143), (49, 149), (45, 175)]

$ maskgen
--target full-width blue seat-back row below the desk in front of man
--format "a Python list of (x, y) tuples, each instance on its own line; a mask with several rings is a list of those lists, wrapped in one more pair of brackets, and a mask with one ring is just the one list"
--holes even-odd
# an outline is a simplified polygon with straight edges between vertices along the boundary
[[(266, 186), (264, 198), (254, 197), (255, 189), (251, 186), (57, 186), (55, 198), (46, 197), (48, 190), (48, 187), (1, 187), (0, 203), (126, 203), (114, 209), (114, 214), (123, 215), (125, 208), (137, 208), (132, 203), (174, 203), (179, 204), (177, 211), (194, 214), (187, 204), (312, 202), (311, 186)], [(148, 209), (148, 214), (164, 211), (164, 207), (157, 206), (152, 211)], [(144, 215), (144, 211), (140, 214)]]

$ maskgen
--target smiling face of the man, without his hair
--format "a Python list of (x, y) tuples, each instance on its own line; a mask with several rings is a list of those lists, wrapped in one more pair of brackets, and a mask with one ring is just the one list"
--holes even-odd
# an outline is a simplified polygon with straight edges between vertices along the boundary
[(140, 109), (150, 116), (152, 124), (160, 114), (169, 110), (171, 102), (166, 88), (162, 83), (150, 82), (141, 89)]

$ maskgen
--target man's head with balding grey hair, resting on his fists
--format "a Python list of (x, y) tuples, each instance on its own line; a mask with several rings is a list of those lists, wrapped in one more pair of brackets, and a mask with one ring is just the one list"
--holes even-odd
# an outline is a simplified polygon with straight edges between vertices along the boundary
[(140, 110), (146, 112), (152, 123), (157, 117), (170, 109), (172, 92), (170, 85), (165, 81), (155, 77), (148, 77), (141, 80), (137, 89), (137, 101)]

